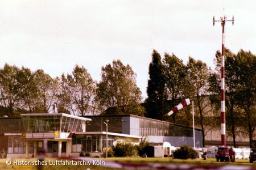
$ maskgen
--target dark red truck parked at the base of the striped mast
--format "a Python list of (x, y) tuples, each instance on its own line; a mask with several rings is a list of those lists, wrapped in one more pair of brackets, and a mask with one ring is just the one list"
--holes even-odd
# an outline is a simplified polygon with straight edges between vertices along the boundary
[(220, 160), (220, 162), (235, 162), (235, 152), (232, 147), (228, 146), (220, 146), (218, 147), (218, 151), (216, 153), (216, 160)]

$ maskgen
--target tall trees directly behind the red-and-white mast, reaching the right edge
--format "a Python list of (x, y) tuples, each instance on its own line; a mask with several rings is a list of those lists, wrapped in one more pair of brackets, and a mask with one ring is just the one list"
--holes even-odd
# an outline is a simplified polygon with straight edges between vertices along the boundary
[[(216, 53), (216, 71), (210, 77), (210, 100), (220, 109), (221, 53)], [(256, 56), (250, 51), (240, 50), (237, 54), (225, 49), (225, 104), (227, 131), (236, 147), (236, 135), (249, 137), (253, 147), (256, 127)]]

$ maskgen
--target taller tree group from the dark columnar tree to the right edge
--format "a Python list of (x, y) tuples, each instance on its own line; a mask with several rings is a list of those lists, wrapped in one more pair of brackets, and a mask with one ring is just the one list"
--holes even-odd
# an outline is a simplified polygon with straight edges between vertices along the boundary
[[(196, 125), (203, 131), (205, 146), (208, 131), (220, 126), (220, 51), (216, 52), (214, 62), (215, 70), (192, 57), (184, 65), (174, 54), (165, 53), (162, 59), (154, 50), (149, 66), (145, 116), (190, 126), (191, 106), (170, 117), (166, 114), (181, 100), (189, 98), (195, 103)], [(256, 56), (242, 49), (237, 54), (225, 49), (225, 69), (227, 132), (233, 138), (234, 147), (237, 134), (249, 137), (252, 147), (256, 127)]]

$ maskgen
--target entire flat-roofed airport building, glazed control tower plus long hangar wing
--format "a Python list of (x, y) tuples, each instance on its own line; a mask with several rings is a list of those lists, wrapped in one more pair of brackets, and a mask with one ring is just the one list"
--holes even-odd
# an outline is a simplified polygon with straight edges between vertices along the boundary
[[(80, 117), (34, 113), (0, 118), (0, 123), (0, 142), (6, 143), (3, 147), (7, 158), (36, 158), (42, 152), (49, 157), (79, 156), (81, 152), (101, 157), (107, 142), (109, 147), (117, 142), (138, 145), (142, 139), (152, 145), (169, 142), (176, 147), (193, 146), (192, 128), (134, 115)], [(201, 147), (200, 129), (195, 129), (195, 140), (196, 147)]]

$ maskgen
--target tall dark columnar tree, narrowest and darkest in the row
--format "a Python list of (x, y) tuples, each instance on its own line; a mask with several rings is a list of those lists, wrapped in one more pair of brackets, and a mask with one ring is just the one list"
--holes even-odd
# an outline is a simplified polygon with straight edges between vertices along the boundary
[(153, 50), (148, 73), (150, 79), (147, 82), (146, 117), (166, 120), (164, 70), (161, 56), (156, 50)]

